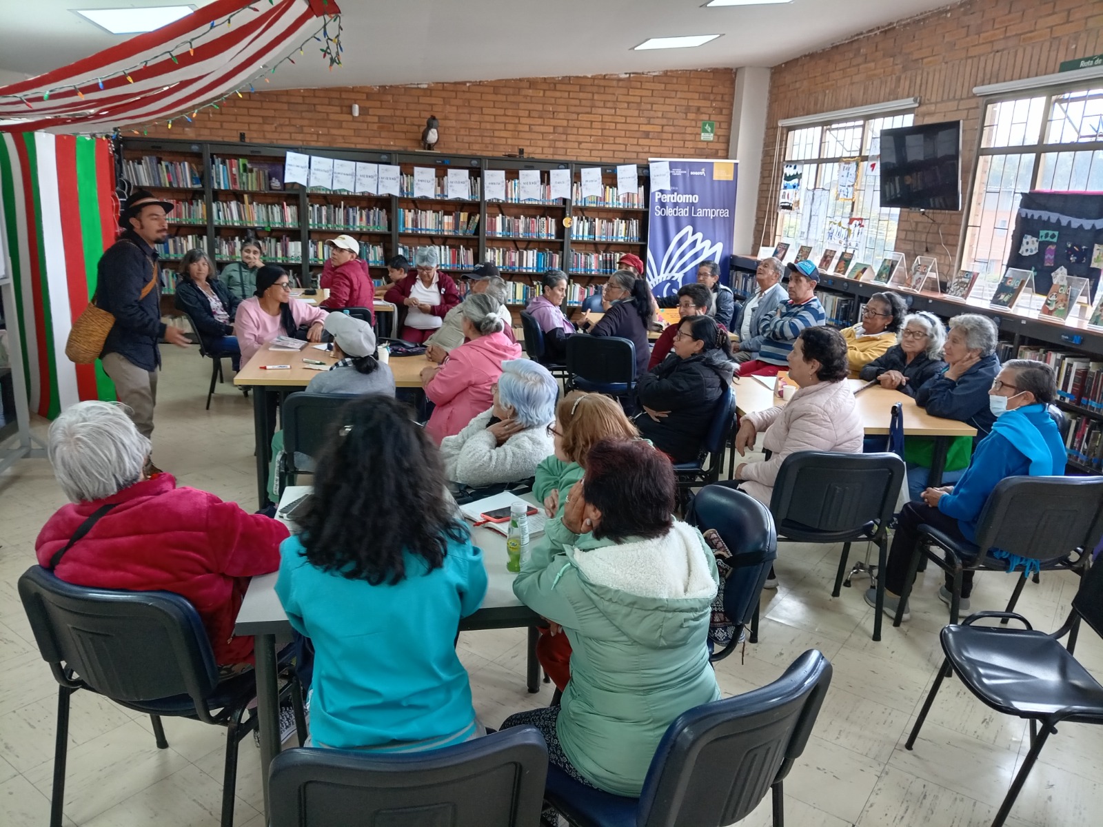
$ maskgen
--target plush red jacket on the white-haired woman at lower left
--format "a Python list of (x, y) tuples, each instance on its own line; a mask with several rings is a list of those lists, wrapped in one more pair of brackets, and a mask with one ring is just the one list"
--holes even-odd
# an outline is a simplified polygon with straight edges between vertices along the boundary
[(39, 563), (49, 566), (107, 503), (119, 505), (65, 552), (54, 573), (76, 586), (175, 592), (200, 613), (219, 665), (251, 663), (253, 638), (234, 637), (234, 621), (249, 578), (279, 568), (283, 524), (214, 494), (178, 488), (171, 474), (158, 474), (109, 497), (58, 508), (34, 543)]

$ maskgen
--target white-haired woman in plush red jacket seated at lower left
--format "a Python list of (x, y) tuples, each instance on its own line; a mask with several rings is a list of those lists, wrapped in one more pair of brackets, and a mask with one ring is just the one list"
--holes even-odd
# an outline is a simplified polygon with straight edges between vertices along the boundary
[(62, 411), (47, 453), (72, 502), (39, 533), (39, 563), (77, 586), (180, 594), (203, 620), (215, 662), (248, 663), (253, 638), (234, 636), (234, 619), (249, 578), (279, 568), (287, 528), (178, 488), (170, 474), (146, 476), (149, 450), (122, 406), (85, 401)]

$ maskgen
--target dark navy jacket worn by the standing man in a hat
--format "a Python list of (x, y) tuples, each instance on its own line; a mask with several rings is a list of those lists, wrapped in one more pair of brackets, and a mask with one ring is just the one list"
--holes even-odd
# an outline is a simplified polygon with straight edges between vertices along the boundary
[(104, 250), (96, 266), (96, 307), (115, 316), (104, 352), (117, 353), (143, 370), (161, 364), (157, 343), (164, 336), (161, 324), (161, 286), (154, 284), (139, 301), (142, 288), (154, 277), (157, 251), (133, 230)]

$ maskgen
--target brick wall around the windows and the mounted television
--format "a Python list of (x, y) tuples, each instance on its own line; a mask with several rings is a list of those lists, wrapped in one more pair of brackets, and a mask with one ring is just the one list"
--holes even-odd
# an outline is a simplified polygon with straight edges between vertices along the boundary
[[(781, 179), (774, 154), (777, 141), (785, 137), (778, 120), (918, 96), (917, 123), (964, 121), (964, 205), (981, 119), (973, 87), (1050, 74), (1062, 61), (1100, 52), (1100, 0), (967, 0), (775, 66), (754, 238), (765, 229), (764, 243), (773, 244)], [(956, 255), (964, 212), (928, 215), (934, 223), (919, 213), (901, 213), (896, 248), (909, 259), (930, 250), (939, 257), (940, 270), (949, 269), (939, 230)]]

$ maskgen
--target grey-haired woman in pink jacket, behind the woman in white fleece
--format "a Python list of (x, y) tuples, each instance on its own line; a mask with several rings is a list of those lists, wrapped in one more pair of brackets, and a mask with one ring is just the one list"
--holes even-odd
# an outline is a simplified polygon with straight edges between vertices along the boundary
[(443, 364), (421, 370), (426, 398), (436, 406), (426, 430), (437, 444), (491, 407), (502, 363), (521, 357), (521, 345), (505, 335), (496, 299), (475, 293), (461, 308), (467, 341), (448, 354)]

